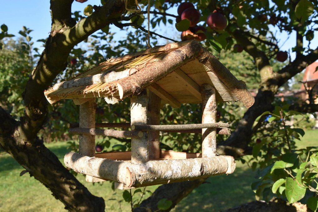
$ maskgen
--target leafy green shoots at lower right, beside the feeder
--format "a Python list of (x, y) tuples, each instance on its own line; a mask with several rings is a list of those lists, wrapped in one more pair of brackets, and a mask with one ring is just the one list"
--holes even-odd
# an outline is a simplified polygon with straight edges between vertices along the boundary
[(286, 122), (292, 116), (302, 114), (288, 108), (289, 105), (276, 106), (273, 112), (265, 112), (258, 118), (267, 117), (266, 127), (259, 134), (263, 134), (261, 141), (253, 146), (253, 157), (247, 159), (254, 169), (259, 168), (259, 181), (253, 183), (252, 188), (257, 199), (268, 200), (275, 194), (290, 203), (302, 200), (307, 192), (311, 195), (307, 200), (308, 207), (315, 211), (318, 150), (317, 147), (296, 148), (294, 140), (300, 140), (305, 132)]

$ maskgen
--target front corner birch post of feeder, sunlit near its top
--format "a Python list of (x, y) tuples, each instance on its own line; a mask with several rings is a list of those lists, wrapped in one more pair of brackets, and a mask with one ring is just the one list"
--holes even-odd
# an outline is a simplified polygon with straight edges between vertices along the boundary
[[(148, 95), (143, 90), (138, 95), (131, 97), (130, 121), (131, 124), (148, 124)], [(148, 132), (142, 138), (131, 138), (131, 162), (140, 164), (149, 161)]]

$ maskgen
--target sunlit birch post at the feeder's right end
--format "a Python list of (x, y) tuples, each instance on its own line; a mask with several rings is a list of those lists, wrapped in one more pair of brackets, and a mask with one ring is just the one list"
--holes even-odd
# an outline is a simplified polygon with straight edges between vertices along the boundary
[[(212, 85), (201, 85), (202, 97), (202, 124), (215, 123), (217, 115), (217, 102), (215, 89)], [(202, 157), (217, 155), (216, 128), (202, 129)]]

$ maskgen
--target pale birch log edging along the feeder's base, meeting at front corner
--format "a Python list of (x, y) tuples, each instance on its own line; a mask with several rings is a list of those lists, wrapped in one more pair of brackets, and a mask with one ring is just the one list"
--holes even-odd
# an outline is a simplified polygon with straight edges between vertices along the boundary
[(156, 160), (131, 164), (71, 152), (65, 155), (64, 163), (75, 172), (120, 182), (125, 188), (194, 180), (216, 174), (231, 174), (236, 166), (231, 156)]

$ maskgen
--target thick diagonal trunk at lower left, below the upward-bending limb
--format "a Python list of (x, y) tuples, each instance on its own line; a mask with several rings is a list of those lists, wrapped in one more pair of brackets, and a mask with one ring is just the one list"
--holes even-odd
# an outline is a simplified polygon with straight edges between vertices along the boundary
[(71, 174), (42, 140), (24, 140), (19, 122), (0, 107), (0, 145), (23, 166), (30, 176), (52, 191), (69, 211), (104, 211), (102, 198), (92, 195), (85, 186)]

